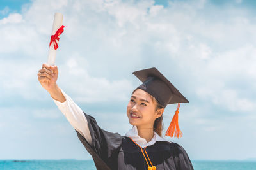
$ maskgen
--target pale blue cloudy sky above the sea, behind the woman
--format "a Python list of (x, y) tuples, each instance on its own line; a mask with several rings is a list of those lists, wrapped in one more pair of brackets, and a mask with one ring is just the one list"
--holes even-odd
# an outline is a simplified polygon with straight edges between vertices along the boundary
[[(55, 12), (65, 31), (58, 86), (102, 129), (125, 134), (126, 106), (157, 67), (189, 100), (192, 160), (256, 159), (255, 1), (0, 0), (0, 159), (92, 159), (37, 80)], [(177, 105), (164, 110), (164, 131)]]

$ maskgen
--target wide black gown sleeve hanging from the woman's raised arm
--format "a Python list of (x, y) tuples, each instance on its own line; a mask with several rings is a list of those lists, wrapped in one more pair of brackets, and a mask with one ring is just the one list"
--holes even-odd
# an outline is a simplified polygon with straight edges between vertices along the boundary
[(123, 137), (118, 133), (111, 133), (101, 129), (90, 115), (84, 113), (92, 137), (92, 145), (78, 131), (77, 136), (84, 147), (92, 155), (97, 169), (115, 169), (117, 155), (122, 145)]

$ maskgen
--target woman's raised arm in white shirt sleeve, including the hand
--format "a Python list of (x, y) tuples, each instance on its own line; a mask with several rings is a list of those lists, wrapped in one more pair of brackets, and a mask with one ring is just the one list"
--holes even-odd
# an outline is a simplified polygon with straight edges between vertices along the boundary
[(68, 122), (78, 131), (88, 143), (92, 144), (92, 137), (88, 129), (88, 122), (83, 111), (74, 101), (63, 92), (57, 85), (58, 67), (43, 64), (42, 69), (38, 71), (38, 81), (51, 95), (52, 99), (65, 115)]

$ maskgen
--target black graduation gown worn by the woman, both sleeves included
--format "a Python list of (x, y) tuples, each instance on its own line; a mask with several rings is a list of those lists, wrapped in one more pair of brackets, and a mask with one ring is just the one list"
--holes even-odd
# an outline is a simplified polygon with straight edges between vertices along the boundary
[[(92, 136), (92, 145), (79, 132), (76, 132), (81, 143), (92, 155), (97, 170), (148, 169), (141, 149), (130, 138), (104, 131), (92, 116), (86, 113), (84, 115)], [(157, 170), (193, 169), (188, 154), (177, 143), (156, 141), (154, 145), (147, 146), (147, 153)]]

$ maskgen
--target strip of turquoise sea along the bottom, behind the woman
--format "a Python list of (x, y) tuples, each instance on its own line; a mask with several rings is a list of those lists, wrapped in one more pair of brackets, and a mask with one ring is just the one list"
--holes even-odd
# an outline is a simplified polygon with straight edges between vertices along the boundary
[[(256, 161), (193, 160), (195, 170), (256, 170)], [(0, 160), (0, 169), (24, 170), (95, 170), (93, 160)]]

